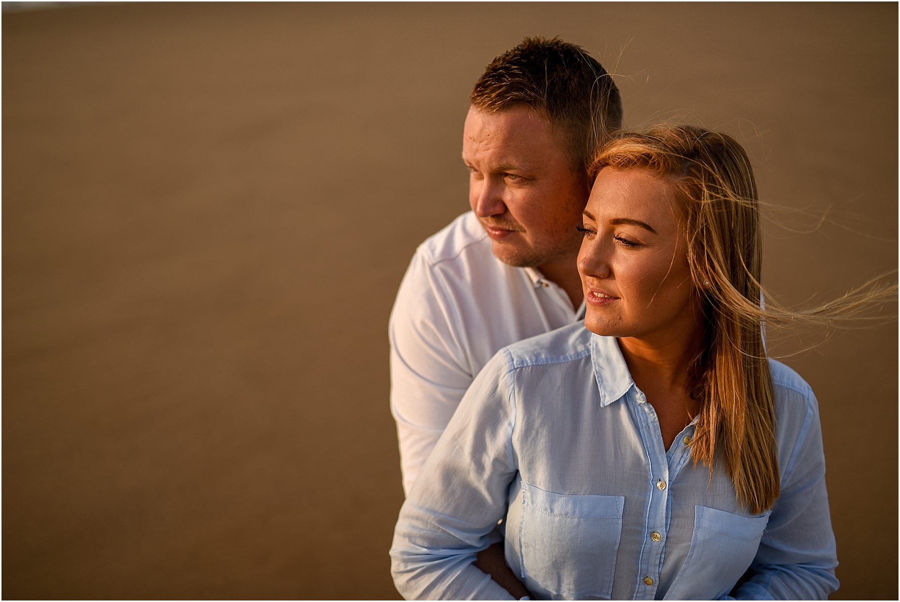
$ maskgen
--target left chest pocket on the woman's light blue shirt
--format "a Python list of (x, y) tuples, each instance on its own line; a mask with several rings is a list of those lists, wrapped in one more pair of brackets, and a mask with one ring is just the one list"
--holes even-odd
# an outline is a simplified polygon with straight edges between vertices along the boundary
[(522, 577), (563, 598), (610, 598), (622, 496), (572, 496), (522, 483)]

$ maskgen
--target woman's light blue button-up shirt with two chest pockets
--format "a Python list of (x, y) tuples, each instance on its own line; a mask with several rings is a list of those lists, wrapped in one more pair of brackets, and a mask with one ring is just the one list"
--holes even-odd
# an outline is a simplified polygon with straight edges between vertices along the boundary
[(507, 562), (536, 599), (826, 598), (838, 581), (818, 408), (770, 365), (781, 495), (751, 515), (724, 472), (710, 482), (690, 460), (693, 424), (664, 448), (615, 338), (574, 324), (500, 350), (403, 504), (397, 589), (511, 599), (473, 566), (505, 518)]

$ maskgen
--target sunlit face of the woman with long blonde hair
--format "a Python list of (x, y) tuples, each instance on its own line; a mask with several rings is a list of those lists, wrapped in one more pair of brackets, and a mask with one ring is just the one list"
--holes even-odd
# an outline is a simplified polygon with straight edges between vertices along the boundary
[(600, 171), (578, 256), (585, 325), (665, 345), (701, 331), (674, 186), (644, 168)]

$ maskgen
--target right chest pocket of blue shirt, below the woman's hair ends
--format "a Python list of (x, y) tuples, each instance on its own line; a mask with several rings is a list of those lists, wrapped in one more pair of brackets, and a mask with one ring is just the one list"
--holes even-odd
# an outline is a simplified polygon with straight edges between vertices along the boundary
[(756, 557), (771, 514), (743, 517), (706, 506), (694, 512), (688, 556), (663, 599), (716, 599), (731, 591)]

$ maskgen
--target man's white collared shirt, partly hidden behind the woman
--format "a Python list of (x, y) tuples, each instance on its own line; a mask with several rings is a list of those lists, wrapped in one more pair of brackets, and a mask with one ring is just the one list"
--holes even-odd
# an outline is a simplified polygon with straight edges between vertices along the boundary
[(582, 319), (562, 288), (491, 252), (472, 211), (416, 250), (391, 312), (391, 411), (403, 489), (473, 378), (500, 348)]

